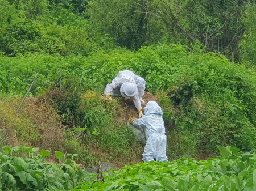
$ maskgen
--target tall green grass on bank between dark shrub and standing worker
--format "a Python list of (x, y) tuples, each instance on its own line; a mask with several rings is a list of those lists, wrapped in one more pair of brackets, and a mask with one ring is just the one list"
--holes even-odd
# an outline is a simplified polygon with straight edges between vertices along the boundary
[(96, 150), (96, 156), (121, 165), (137, 160), (140, 152), (138, 141), (126, 124), (115, 120), (122, 113), (118, 99), (102, 100), (99, 92), (87, 91), (82, 96), (80, 109), (84, 126), (88, 129), (84, 142)]

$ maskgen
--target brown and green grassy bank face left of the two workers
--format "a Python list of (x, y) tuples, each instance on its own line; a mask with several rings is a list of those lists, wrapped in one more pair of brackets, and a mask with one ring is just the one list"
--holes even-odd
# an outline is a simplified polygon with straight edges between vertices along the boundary
[(16, 109), (22, 99), (2, 98), (1, 146), (30, 146), (52, 153), (79, 154), (78, 161), (85, 167), (99, 160), (116, 167), (141, 161), (143, 146), (126, 126), (124, 116), (130, 113), (135, 117), (134, 108), (122, 108), (118, 99), (110, 103), (102, 100), (98, 92), (88, 91), (82, 95), (76, 112), (60, 113), (60, 116), (58, 108), (70, 111), (71, 105), (74, 107), (75, 100), (68, 104), (70, 94), (65, 96), (54, 90), (43, 97), (28, 98), (18, 114)]

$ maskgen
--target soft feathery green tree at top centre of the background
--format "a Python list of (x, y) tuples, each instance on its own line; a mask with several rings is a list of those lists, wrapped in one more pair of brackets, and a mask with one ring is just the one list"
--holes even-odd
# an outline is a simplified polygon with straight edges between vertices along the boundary
[[(139, 1), (143, 5), (143, 1)], [(93, 0), (89, 2), (89, 22), (94, 32), (109, 33), (119, 46), (137, 50), (162, 36), (162, 24), (151, 18), (137, 0)], [(150, 26), (150, 27), (149, 27)]]

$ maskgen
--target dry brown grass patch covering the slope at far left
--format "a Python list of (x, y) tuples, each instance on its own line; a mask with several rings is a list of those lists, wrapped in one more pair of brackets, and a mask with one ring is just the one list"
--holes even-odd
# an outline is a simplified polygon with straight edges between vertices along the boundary
[(6, 138), (2, 144), (65, 151), (65, 129), (56, 111), (33, 97), (27, 98), (16, 114), (21, 101), (21, 97), (0, 100), (0, 129)]

